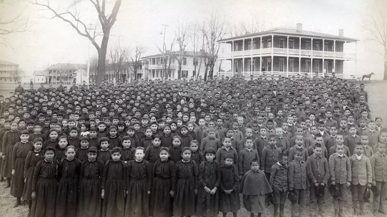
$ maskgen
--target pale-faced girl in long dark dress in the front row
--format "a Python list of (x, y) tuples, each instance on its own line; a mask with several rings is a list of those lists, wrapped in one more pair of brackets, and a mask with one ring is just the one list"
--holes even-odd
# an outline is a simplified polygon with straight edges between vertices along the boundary
[(152, 188), (151, 164), (144, 160), (144, 148), (137, 147), (135, 159), (128, 164), (128, 189), (125, 216), (149, 216), (149, 194)]

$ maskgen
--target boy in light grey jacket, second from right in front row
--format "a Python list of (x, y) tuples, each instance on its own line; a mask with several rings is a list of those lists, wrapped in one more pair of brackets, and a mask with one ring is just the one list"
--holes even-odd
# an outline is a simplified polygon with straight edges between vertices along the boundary
[[(349, 163), (352, 170), (352, 206), (353, 215), (363, 215), (365, 193), (367, 188), (371, 188), (372, 184), (372, 168), (370, 159), (363, 154), (363, 144), (357, 143), (355, 146), (355, 154), (349, 157)], [(359, 212), (358, 212), (359, 202)]]

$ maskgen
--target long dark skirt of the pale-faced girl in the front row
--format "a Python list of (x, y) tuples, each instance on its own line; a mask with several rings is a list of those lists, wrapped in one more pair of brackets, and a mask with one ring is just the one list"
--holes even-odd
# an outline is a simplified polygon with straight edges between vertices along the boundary
[(125, 205), (125, 217), (149, 216), (147, 179), (130, 181), (128, 198)]

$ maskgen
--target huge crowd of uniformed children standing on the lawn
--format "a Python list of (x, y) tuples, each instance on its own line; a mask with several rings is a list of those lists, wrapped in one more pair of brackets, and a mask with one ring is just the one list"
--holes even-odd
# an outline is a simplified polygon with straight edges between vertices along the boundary
[[(20, 86), (19, 86), (20, 87)], [(41, 85), (0, 96), (0, 179), (27, 216), (385, 214), (387, 130), (335, 77)], [(20, 92), (22, 90), (22, 92)], [(201, 95), (204, 92), (205, 95)], [(207, 107), (209, 104), (209, 107)], [(240, 198), (241, 194), (241, 198)], [(368, 196), (367, 196), (368, 195)], [(242, 201), (241, 201), (242, 199)]]

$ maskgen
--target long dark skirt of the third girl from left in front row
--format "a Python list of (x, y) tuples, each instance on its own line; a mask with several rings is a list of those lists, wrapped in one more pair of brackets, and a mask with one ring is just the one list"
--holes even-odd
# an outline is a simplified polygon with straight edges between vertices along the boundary
[(101, 180), (83, 179), (79, 185), (78, 200), (79, 217), (100, 217), (102, 198), (101, 198)]

